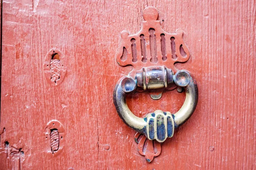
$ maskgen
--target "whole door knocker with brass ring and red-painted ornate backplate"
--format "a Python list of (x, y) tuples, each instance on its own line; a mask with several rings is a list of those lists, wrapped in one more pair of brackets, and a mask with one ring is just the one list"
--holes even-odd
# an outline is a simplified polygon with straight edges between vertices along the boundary
[[(189, 71), (177, 70), (174, 66), (175, 62), (186, 62), (190, 56), (183, 42), (183, 31), (178, 29), (175, 34), (163, 31), (157, 17), (156, 8), (145, 8), (145, 21), (141, 30), (133, 35), (129, 35), (128, 31), (121, 32), (122, 43), (116, 57), (119, 65), (134, 67), (128, 76), (119, 79), (113, 92), (113, 102), (122, 121), (138, 132), (135, 140), (139, 144), (145, 142), (146, 138), (148, 143), (153, 145), (151, 140), (164, 142), (168, 137), (172, 137), (175, 128), (189, 119), (198, 102), (195, 79)], [(140, 118), (135, 116), (126, 104), (128, 94), (147, 91), (152, 99), (157, 100), (161, 98), (164, 90), (174, 88), (182, 88), (186, 92), (183, 106), (175, 114), (157, 110)], [(137, 141), (140, 133), (146, 138)], [(148, 146), (145, 151), (148, 153), (138, 148), (148, 162), (160, 154), (154, 153), (152, 148), (153, 146)]]

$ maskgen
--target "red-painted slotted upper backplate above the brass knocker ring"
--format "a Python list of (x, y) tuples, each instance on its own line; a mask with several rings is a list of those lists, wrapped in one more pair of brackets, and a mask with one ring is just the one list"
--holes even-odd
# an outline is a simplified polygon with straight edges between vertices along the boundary
[(175, 62), (186, 62), (189, 50), (183, 42), (183, 31), (177, 29), (174, 34), (167, 33), (157, 20), (158, 11), (154, 7), (143, 10), (143, 26), (139, 32), (130, 35), (122, 31), (122, 43), (116, 57), (121, 66), (133, 65), (135, 70), (143, 67), (165, 65), (174, 73)]

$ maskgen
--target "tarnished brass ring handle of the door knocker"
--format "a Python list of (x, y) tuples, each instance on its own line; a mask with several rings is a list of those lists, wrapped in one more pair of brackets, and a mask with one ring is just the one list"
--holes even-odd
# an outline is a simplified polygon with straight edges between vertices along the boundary
[[(137, 88), (157, 89), (167, 88), (176, 84), (186, 92), (186, 99), (179, 111), (171, 114), (157, 110), (148, 113), (145, 118), (135, 116), (126, 104), (126, 96), (133, 94)], [(195, 111), (198, 102), (198, 87), (188, 71), (180, 70), (174, 75), (171, 69), (165, 66), (153, 66), (137, 71), (136, 76), (124, 76), (119, 79), (114, 92), (113, 102), (120, 118), (126, 125), (143, 133), (149, 140), (156, 139), (164, 142), (172, 137), (175, 127), (182, 125)]]

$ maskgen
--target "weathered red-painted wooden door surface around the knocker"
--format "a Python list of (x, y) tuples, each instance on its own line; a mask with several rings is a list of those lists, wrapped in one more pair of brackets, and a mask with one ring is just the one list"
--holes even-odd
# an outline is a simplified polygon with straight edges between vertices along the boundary
[[(115, 61), (119, 33), (137, 32), (147, 6), (159, 10), (165, 31), (186, 32), (191, 57), (176, 66), (191, 71), (199, 89), (195, 113), (150, 164), (112, 99), (131, 70)], [(255, 15), (255, 0), (4, 0), (0, 169), (256, 169)], [(44, 76), (52, 48), (67, 67), (58, 86)], [(168, 91), (128, 104), (143, 116), (174, 113), (183, 100)], [(45, 136), (53, 119), (66, 133), (56, 156)]]

